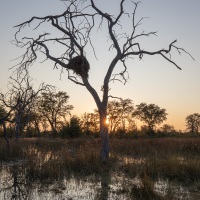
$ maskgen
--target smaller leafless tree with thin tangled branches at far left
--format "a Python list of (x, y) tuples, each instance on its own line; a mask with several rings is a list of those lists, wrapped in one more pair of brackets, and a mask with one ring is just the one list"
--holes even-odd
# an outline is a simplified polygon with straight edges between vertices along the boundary
[(42, 91), (52, 86), (41, 84), (37, 91), (33, 89), (31, 77), (27, 71), (17, 77), (10, 77), (9, 88), (6, 94), (0, 93), (0, 102), (11, 111), (14, 112), (15, 122), (15, 138), (20, 137), (21, 119), (25, 112), (29, 112), (30, 104), (34, 98)]

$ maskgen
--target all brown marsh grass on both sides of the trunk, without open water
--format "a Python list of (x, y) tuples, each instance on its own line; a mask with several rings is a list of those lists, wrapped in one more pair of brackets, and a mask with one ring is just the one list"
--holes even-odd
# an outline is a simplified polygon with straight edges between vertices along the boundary
[(0, 140), (0, 161), (23, 160), (24, 173), (37, 181), (90, 175), (104, 180), (111, 172), (123, 173), (130, 180), (138, 177), (140, 186), (118, 188), (131, 199), (175, 199), (171, 188), (164, 197), (154, 191), (160, 179), (200, 190), (199, 138), (111, 139), (107, 163), (100, 160), (100, 147), (99, 139), (20, 139), (17, 143), (11, 141), (8, 154), (5, 141)]

